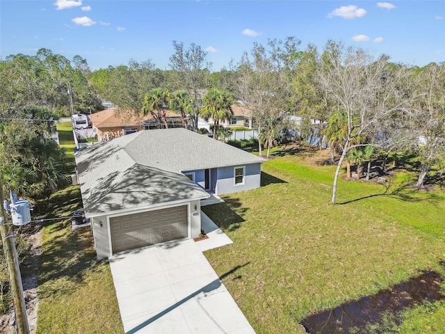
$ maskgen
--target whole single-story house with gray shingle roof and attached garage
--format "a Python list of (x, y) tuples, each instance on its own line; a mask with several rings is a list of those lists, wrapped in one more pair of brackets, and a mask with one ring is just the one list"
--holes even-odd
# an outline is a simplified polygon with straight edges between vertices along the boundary
[(181, 128), (136, 132), (75, 158), (99, 259), (197, 237), (201, 200), (259, 187), (265, 161)]

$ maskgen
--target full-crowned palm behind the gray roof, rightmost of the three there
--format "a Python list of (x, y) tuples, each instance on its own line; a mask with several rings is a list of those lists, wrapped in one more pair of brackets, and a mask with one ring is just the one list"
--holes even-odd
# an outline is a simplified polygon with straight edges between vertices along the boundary
[(229, 120), (234, 114), (230, 107), (234, 103), (234, 98), (224, 90), (210, 88), (202, 97), (202, 102), (204, 105), (200, 109), (200, 114), (204, 118), (213, 119), (213, 138), (216, 139), (220, 121)]

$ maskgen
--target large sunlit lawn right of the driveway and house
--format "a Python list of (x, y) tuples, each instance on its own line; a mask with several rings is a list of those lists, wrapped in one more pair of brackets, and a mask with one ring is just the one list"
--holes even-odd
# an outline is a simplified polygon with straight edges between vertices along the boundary
[[(258, 334), (301, 333), (312, 313), (423, 270), (445, 274), (444, 191), (412, 191), (398, 178), (386, 187), (340, 180), (340, 204), (331, 205), (335, 166), (307, 161), (271, 159), (260, 189), (202, 207), (234, 241), (205, 255), (219, 275), (233, 270), (223, 282)], [(399, 329), (444, 333), (444, 314), (444, 302), (421, 306)]]

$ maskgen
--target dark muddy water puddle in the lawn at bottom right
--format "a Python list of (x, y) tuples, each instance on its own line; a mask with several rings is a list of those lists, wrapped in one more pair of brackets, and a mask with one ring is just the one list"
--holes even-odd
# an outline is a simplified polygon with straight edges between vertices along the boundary
[(420, 276), (382, 290), (359, 301), (344, 303), (337, 308), (311, 315), (301, 321), (307, 333), (362, 333), (366, 324), (382, 322), (386, 314), (398, 312), (426, 302), (445, 299), (441, 292), (442, 276), (425, 271)]

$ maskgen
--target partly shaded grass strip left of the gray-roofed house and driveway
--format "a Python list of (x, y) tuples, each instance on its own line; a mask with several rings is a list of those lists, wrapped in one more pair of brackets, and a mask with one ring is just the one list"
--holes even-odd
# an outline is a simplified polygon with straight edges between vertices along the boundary
[[(74, 168), (71, 123), (58, 123), (60, 145)], [(81, 209), (79, 186), (70, 186), (40, 202), (46, 218), (71, 216)], [(90, 228), (71, 229), (71, 219), (42, 228), (38, 278), (37, 333), (123, 333), (108, 262), (97, 262)]]

